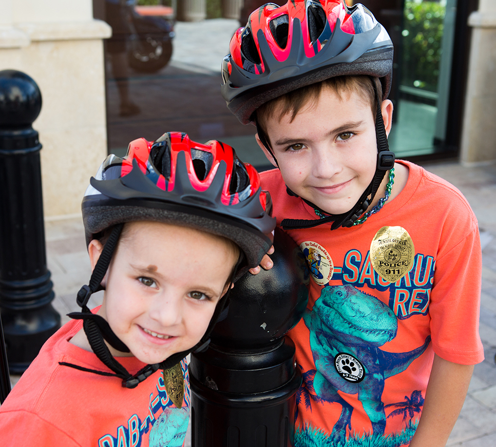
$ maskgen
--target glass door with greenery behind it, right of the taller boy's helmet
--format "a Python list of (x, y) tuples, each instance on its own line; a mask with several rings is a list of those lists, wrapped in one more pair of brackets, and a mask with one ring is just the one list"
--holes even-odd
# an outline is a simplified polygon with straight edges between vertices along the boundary
[[(394, 44), (393, 128), (398, 158), (443, 150), (457, 0), (361, 0)], [(356, 2), (358, 3), (358, 2)]]

